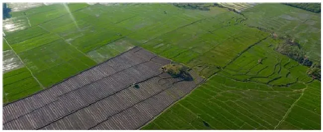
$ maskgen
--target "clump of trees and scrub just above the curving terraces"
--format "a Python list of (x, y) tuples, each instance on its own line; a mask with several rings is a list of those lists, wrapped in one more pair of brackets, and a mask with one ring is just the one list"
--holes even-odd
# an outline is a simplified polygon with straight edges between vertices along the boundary
[(289, 58), (297, 61), (303, 66), (312, 66), (311, 62), (305, 55), (305, 52), (302, 50), (301, 45), (298, 44), (295, 39), (290, 36), (283, 38), (283, 41), (277, 45), (275, 50), (283, 55), (288, 56)]

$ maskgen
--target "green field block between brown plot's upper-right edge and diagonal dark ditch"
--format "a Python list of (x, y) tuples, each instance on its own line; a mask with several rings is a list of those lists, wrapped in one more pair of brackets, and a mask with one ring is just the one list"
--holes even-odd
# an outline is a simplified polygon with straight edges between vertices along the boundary
[(226, 12), (191, 23), (139, 46), (190, 66), (199, 74), (209, 77), (229, 64), (244, 49), (268, 35), (243, 26), (241, 15)]

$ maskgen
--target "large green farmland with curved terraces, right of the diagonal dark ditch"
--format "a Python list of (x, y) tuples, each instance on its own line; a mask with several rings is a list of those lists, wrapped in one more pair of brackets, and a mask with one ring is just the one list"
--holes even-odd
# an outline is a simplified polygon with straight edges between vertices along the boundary
[(143, 129), (321, 129), (321, 82), (269, 44), (277, 42), (254, 45)]

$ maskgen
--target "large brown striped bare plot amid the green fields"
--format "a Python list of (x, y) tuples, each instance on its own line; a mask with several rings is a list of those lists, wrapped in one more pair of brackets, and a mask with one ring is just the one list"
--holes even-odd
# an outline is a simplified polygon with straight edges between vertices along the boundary
[[(137, 129), (203, 81), (192, 70), (189, 71), (194, 78), (191, 81), (162, 73), (160, 67), (169, 63), (170, 60), (144, 49), (133, 48), (51, 88), (4, 106), (3, 128)], [(131, 86), (133, 83), (139, 87)]]

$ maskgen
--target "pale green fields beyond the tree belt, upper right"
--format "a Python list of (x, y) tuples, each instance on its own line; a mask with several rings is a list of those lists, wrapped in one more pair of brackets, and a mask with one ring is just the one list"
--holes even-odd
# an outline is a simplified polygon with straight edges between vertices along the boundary
[(259, 4), (242, 11), (251, 26), (272, 30), (278, 36), (289, 34), (299, 41), (310, 60), (321, 60), (321, 13), (285, 4)]

